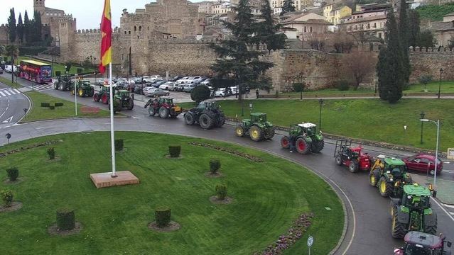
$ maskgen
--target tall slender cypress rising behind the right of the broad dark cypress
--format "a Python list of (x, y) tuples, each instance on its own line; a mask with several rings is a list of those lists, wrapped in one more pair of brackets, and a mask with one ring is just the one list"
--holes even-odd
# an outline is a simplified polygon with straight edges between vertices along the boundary
[(411, 74), (411, 65), (409, 57), (409, 17), (407, 15), (406, 0), (401, 0), (399, 11), (399, 42), (402, 51), (402, 72), (404, 72), (404, 81), (409, 82)]

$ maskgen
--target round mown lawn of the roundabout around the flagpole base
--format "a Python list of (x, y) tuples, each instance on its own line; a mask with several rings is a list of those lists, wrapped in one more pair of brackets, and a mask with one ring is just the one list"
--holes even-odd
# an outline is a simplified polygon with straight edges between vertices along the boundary
[[(313, 212), (313, 224), (285, 254), (306, 254), (309, 234), (320, 240), (313, 254), (328, 254), (340, 238), (340, 200), (327, 183), (298, 164), (221, 142), (143, 132), (116, 135), (125, 141), (124, 152), (117, 153), (117, 169), (133, 172), (140, 185), (94, 187), (89, 174), (110, 171), (108, 132), (40, 137), (0, 149), (63, 140), (53, 145), (57, 161), (48, 161), (46, 147), (1, 159), (2, 166), (18, 167), (23, 181), (0, 181), (0, 190), (11, 188), (23, 208), (1, 213), (0, 232), (8, 234), (0, 239), (0, 254), (253, 254), (285, 234), (301, 212)], [(237, 149), (264, 162), (188, 145), (190, 141)], [(169, 142), (182, 145), (183, 159), (164, 157)], [(204, 175), (212, 157), (222, 162), (220, 179)], [(5, 171), (0, 179), (6, 179)], [(217, 183), (227, 184), (231, 204), (209, 201)], [(148, 230), (154, 209), (161, 206), (171, 208), (181, 229)], [(62, 207), (75, 209), (83, 225), (80, 234), (48, 234), (55, 210)]]

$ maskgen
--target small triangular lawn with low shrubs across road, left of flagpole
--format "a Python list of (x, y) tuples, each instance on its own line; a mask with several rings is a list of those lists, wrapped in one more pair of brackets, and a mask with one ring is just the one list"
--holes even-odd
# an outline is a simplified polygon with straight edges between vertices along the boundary
[[(37, 91), (28, 91), (25, 93), (33, 102), (33, 107), (31, 111), (28, 112), (26, 118), (22, 122), (29, 122), (33, 120), (48, 120), (55, 118), (68, 118), (75, 117), (75, 103), (66, 101), (60, 98), (55, 98), (53, 96), (48, 96), (46, 94), (39, 93)], [(54, 110), (50, 110), (47, 107), (41, 107), (41, 103), (50, 103), (53, 105), (57, 102), (63, 102), (63, 106), (55, 107)], [(109, 111), (101, 109), (99, 113), (82, 113), (80, 108), (83, 105), (77, 103), (77, 117), (109, 117)]]

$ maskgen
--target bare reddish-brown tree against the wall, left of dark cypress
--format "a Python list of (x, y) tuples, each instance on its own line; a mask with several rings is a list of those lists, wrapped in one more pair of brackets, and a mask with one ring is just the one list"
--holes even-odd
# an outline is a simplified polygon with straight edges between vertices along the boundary
[(375, 69), (375, 58), (372, 52), (361, 52), (355, 50), (343, 57), (344, 73), (348, 74), (348, 79), (355, 80), (354, 90), (357, 90), (364, 79)]

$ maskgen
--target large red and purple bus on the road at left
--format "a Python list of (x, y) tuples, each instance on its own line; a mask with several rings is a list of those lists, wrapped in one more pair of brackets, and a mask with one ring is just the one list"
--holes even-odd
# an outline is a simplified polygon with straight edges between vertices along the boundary
[(35, 60), (22, 60), (18, 75), (22, 79), (45, 84), (52, 82), (52, 67), (50, 67), (50, 64)]

